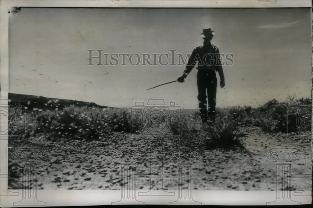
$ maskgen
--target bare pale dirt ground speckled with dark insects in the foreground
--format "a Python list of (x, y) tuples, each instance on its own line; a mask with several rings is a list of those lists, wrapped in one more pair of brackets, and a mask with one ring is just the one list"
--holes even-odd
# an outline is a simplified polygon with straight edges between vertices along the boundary
[[(178, 166), (184, 164), (192, 164), (192, 187), (198, 190), (276, 190), (276, 166), (281, 161), (291, 162), (291, 175), (311, 173), (309, 136), (268, 134), (256, 127), (247, 128), (245, 134), (246, 150), (198, 148), (195, 155), (190, 155), (192, 148), (172, 151), (172, 139), (132, 137), (129, 133), (112, 133), (94, 141), (30, 137), (9, 144), (9, 173), (21, 173), (22, 161), (12, 157), (16, 148), (26, 148), (23, 162), (34, 161), (31, 148), (46, 152), (45, 158), (37, 161), (37, 189), (120, 189), (127, 183), (121, 180), (121, 169), (127, 164), (136, 166), (136, 189), (142, 190), (177, 189), (177, 178), (170, 176), (177, 175)], [(274, 153), (267, 154), (270, 148), (276, 148), (278, 160)], [(296, 154), (288, 156), (291, 150)], [(158, 177), (161, 174), (167, 176), (162, 179)], [(291, 177), (287, 188), (310, 190), (310, 179), (287, 177)], [(21, 188), (22, 180), (10, 179), (8, 188)]]

